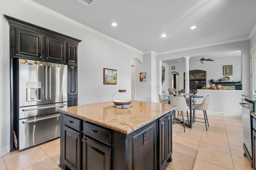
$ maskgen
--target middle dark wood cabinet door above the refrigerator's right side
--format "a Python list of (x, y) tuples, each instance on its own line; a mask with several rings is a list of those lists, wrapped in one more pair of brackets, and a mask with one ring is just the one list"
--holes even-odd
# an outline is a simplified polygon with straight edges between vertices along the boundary
[(66, 62), (66, 42), (57, 38), (45, 37), (45, 59)]

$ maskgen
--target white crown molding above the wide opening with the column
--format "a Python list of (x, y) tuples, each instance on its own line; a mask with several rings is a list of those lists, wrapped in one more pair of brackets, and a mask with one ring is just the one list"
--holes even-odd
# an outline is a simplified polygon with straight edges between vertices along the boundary
[(226, 41), (226, 42), (210, 43), (210, 44), (206, 44), (206, 45), (199, 45), (199, 46), (194, 46), (194, 47), (189, 47), (189, 48), (182, 48), (182, 49), (176, 49), (176, 50), (172, 50), (172, 51), (157, 53), (157, 55), (163, 55), (163, 54), (168, 54), (168, 53), (176, 53), (176, 52), (180, 52), (180, 51), (198, 49), (198, 48), (203, 48), (203, 47), (210, 47), (210, 46), (221, 45), (221, 44), (225, 44), (225, 43), (240, 42), (240, 41), (245, 41), (245, 40), (250, 40), (250, 39), (247, 37), (247, 38), (240, 38), (240, 39), (236, 39), (236, 40), (229, 40), (229, 41)]

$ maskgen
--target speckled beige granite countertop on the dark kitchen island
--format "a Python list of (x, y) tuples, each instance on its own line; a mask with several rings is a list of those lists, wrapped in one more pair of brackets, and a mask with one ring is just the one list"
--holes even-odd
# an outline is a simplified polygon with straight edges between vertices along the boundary
[(112, 101), (108, 101), (60, 108), (58, 111), (102, 127), (130, 134), (176, 108), (174, 105), (144, 101), (132, 101), (131, 105), (129, 109), (117, 109), (113, 107)]

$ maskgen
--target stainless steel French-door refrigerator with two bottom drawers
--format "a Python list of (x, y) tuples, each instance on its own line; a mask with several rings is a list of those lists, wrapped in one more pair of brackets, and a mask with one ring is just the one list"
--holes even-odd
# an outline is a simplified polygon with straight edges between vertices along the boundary
[(19, 149), (58, 138), (60, 113), (67, 106), (67, 65), (27, 59), (16, 63)]

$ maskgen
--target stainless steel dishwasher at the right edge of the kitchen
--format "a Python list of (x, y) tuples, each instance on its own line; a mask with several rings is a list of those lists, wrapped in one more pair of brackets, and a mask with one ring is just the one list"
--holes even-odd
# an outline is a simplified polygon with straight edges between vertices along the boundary
[(248, 99), (242, 99), (240, 103), (242, 105), (242, 121), (243, 121), (243, 133), (244, 133), (244, 156), (249, 160), (252, 166), (252, 127), (250, 121), (250, 113), (254, 112), (254, 102)]

